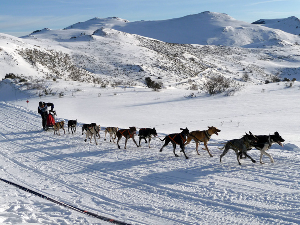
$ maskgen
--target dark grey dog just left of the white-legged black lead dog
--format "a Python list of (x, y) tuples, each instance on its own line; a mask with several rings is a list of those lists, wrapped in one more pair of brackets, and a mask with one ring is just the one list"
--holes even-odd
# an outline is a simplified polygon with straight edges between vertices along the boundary
[(251, 132), (249, 132), (250, 134), (247, 134), (244, 135), (242, 138), (240, 139), (233, 139), (233, 140), (229, 140), (228, 142), (225, 143), (224, 147), (223, 148), (218, 148), (220, 150), (224, 150), (224, 152), (221, 154), (221, 157), (220, 157), (220, 162), (222, 162), (222, 157), (227, 154), (227, 152), (232, 149), (235, 151), (236, 153), (236, 156), (237, 156), (237, 161), (238, 161), (238, 164), (241, 165), (241, 162), (240, 162), (240, 155), (238, 153), (238, 151), (241, 151), (241, 153), (245, 156), (245, 157), (248, 157), (251, 159), (251, 161), (253, 163), (255, 163), (256, 161), (251, 158), (251, 156), (249, 156), (247, 154), (247, 150), (248, 149), (251, 149), (251, 144), (252, 143), (256, 143), (258, 141), (258, 138), (253, 135)]

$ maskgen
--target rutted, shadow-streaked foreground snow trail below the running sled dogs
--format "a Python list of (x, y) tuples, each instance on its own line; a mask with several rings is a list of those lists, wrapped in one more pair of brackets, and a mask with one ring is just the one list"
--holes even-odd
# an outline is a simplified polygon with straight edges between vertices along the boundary
[[(174, 157), (171, 144), (159, 152), (158, 139), (152, 139), (152, 149), (143, 140), (140, 148), (128, 140), (123, 149), (122, 138), (118, 149), (104, 142), (104, 132), (95, 145), (94, 139), (84, 142), (81, 126), (75, 135), (65, 129), (61, 136), (44, 132), (36, 112), (0, 103), (1, 178), (131, 224), (300, 223), (297, 151), (272, 148), (274, 164), (264, 156), (264, 165), (243, 160), (239, 166), (233, 151), (220, 164), (222, 142), (213, 140), (208, 146), (214, 157), (203, 150), (197, 156), (190, 144), (186, 160), (182, 153)], [(260, 152), (251, 155), (258, 159)], [(0, 205), (6, 222), (55, 224), (47, 216), (52, 212), (60, 224), (107, 224), (7, 186), (0, 185), (10, 190), (8, 197), (17, 194), (20, 200)]]

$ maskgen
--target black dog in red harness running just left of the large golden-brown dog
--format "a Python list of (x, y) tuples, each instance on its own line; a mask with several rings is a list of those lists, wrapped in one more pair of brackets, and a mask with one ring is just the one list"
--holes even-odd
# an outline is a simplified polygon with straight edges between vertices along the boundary
[(163, 149), (166, 145), (169, 144), (169, 142), (172, 142), (173, 147), (174, 147), (174, 155), (175, 155), (176, 157), (179, 156), (179, 155), (177, 155), (177, 154), (175, 153), (175, 150), (176, 150), (176, 144), (179, 144), (179, 145), (180, 145), (180, 148), (181, 148), (181, 151), (183, 152), (185, 158), (188, 159), (188, 157), (186, 156), (185, 151), (184, 151), (184, 149), (185, 149), (185, 148), (184, 148), (184, 143), (185, 143), (185, 141), (186, 141), (186, 139), (187, 139), (187, 136), (189, 135), (189, 130), (187, 129), (187, 127), (186, 127), (185, 129), (182, 129), (182, 128), (180, 128), (180, 129), (182, 130), (181, 133), (172, 133), (172, 134), (166, 136), (163, 140), (159, 138), (159, 140), (161, 140), (161, 141), (164, 141), (164, 140), (165, 140), (165, 143), (164, 143), (164, 145), (162, 146), (162, 148), (160, 149), (160, 152), (162, 151), (162, 149)]

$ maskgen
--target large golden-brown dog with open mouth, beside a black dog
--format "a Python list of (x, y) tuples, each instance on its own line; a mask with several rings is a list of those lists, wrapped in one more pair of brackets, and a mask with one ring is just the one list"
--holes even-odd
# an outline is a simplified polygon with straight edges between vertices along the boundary
[(203, 150), (208, 151), (208, 154), (210, 155), (210, 157), (213, 157), (213, 155), (210, 153), (210, 151), (207, 147), (207, 142), (210, 140), (210, 138), (213, 134), (218, 135), (218, 132), (220, 132), (220, 131), (221, 130), (217, 129), (214, 126), (211, 126), (211, 127), (208, 126), (208, 130), (192, 131), (192, 132), (190, 132), (190, 135), (187, 137), (187, 141), (186, 141), (185, 145), (189, 144), (189, 142), (191, 140), (194, 140), (196, 142), (197, 153), (198, 153), (198, 155), (200, 155), (199, 152), (198, 152), (198, 146), (199, 146), (199, 142), (203, 142), (204, 146), (205, 146), (205, 148), (203, 148)]

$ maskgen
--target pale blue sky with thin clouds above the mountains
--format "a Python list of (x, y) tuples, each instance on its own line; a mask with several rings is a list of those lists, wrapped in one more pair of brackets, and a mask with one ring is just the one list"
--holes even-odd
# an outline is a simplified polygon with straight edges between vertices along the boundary
[(164, 20), (203, 11), (236, 20), (300, 18), (300, 0), (1, 0), (0, 33), (23, 36), (43, 28), (63, 29), (94, 17), (130, 22)]

